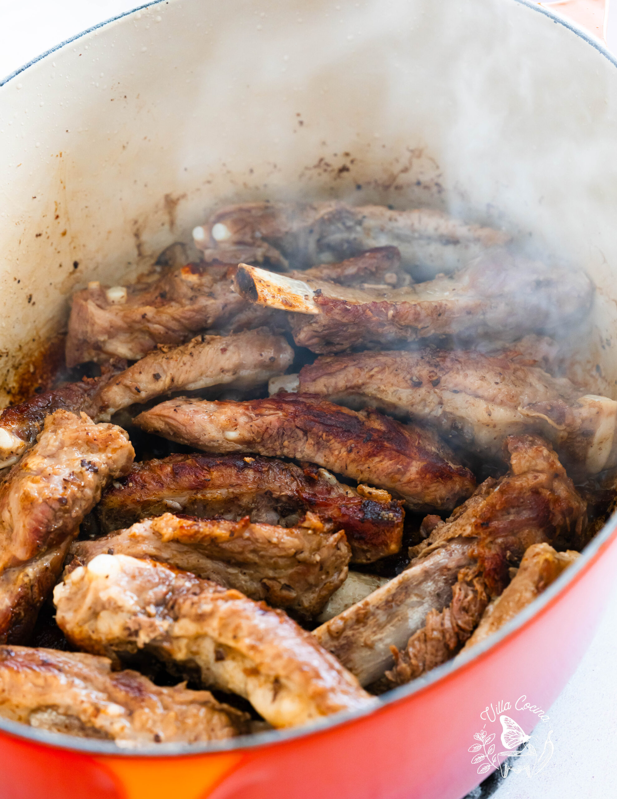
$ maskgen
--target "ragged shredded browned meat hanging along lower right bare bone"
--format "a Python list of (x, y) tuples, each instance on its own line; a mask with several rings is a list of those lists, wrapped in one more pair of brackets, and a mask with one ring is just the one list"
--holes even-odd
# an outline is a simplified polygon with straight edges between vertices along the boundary
[(394, 668), (386, 671), (389, 687), (415, 680), (452, 658), (472, 634), (487, 605), (486, 586), (477, 565), (461, 569), (449, 606), (441, 613), (429, 610), (425, 626), (409, 638), (404, 650), (392, 647)]

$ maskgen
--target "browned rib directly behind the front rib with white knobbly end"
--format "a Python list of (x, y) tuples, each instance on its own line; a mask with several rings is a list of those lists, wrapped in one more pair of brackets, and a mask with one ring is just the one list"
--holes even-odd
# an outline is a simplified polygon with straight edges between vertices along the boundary
[(169, 563), (251, 599), (317, 616), (347, 576), (350, 547), (342, 530), (312, 513), (295, 527), (224, 519), (187, 519), (166, 513), (71, 547), (77, 562), (101, 553)]

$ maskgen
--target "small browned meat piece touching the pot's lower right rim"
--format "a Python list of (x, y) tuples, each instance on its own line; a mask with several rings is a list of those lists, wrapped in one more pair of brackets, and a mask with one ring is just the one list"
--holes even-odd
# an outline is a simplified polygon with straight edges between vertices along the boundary
[(525, 552), (512, 582), (506, 586), (503, 594), (488, 605), (463, 650), (469, 650), (503, 627), (539, 597), (578, 557), (578, 552), (557, 552), (547, 543), (532, 544)]

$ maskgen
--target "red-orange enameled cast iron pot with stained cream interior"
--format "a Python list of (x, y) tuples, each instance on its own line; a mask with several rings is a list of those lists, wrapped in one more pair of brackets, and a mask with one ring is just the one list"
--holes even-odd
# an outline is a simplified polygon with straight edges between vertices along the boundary
[[(159, 2), (2, 85), (8, 388), (87, 280), (135, 275), (220, 203), (327, 197), (448, 209), (582, 265), (598, 291), (580, 368), (615, 384), (611, 56), (526, 0), (338, 2)], [(575, 669), (615, 539), (613, 522), (495, 639), (369, 714), (139, 755), (3, 721), (0, 797), (460, 799), (481, 711), (548, 708)]]

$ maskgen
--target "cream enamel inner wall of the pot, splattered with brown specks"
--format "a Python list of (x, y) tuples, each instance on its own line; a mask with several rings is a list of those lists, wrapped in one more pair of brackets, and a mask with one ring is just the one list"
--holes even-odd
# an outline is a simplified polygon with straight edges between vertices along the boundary
[(155, 3), (4, 82), (0, 174), (6, 388), (75, 288), (135, 276), (222, 203), (331, 197), (585, 268), (580, 368), (615, 386), (617, 70), (531, 2)]

